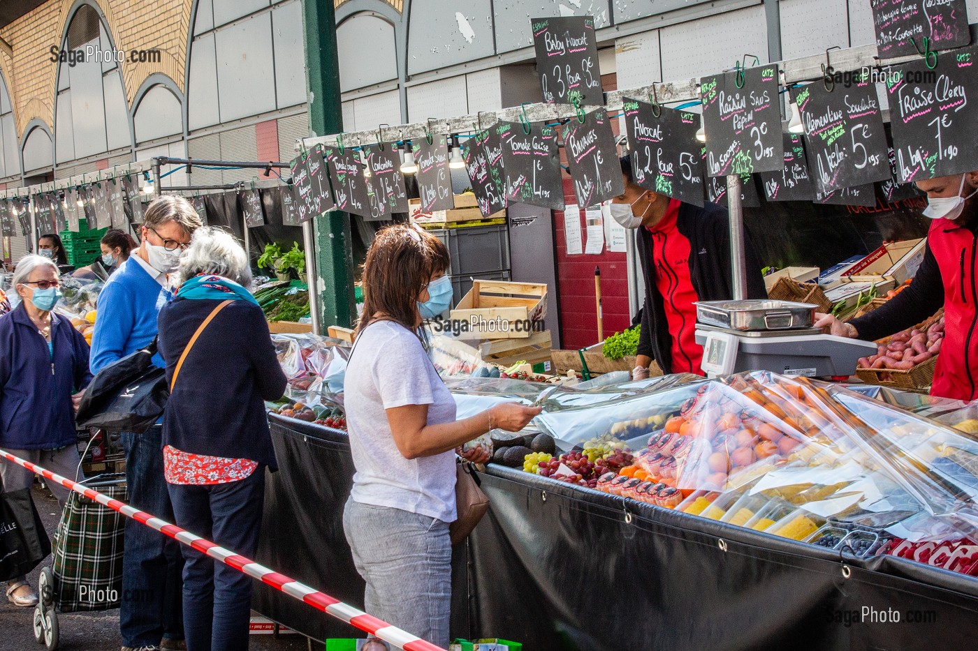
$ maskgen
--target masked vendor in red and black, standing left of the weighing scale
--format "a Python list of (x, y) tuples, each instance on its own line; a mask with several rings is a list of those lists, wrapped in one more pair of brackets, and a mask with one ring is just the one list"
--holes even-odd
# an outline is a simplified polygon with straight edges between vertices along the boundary
[[(638, 364), (632, 377), (648, 377), (655, 360), (664, 373), (703, 374), (703, 347), (696, 343), (695, 301), (733, 298), (730, 221), (727, 210), (707, 202), (702, 208), (645, 190), (621, 158), (625, 193), (611, 199), (611, 217), (636, 230), (645, 276), (645, 308)], [(744, 238), (747, 298), (766, 298), (761, 265)]]

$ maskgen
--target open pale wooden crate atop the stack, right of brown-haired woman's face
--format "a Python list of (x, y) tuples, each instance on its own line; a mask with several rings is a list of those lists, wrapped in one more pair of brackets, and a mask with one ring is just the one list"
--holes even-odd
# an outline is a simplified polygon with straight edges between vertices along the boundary
[(467, 322), (464, 338), (526, 339), (536, 333), (534, 322), (546, 316), (546, 284), (474, 281), (449, 318)]

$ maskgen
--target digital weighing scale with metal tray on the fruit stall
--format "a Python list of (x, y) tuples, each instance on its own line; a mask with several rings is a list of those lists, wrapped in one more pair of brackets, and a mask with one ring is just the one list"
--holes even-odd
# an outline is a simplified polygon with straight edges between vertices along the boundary
[(710, 377), (747, 370), (839, 377), (856, 372), (861, 357), (876, 354), (871, 341), (822, 334), (812, 327), (815, 309), (764, 300), (697, 303), (696, 343), (703, 346), (703, 371)]

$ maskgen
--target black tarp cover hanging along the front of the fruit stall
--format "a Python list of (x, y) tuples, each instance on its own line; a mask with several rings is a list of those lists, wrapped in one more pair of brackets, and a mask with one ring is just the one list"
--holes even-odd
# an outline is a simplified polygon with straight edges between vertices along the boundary
[[(281, 470), (267, 484), (258, 561), (362, 607), (341, 524), (353, 475), (345, 436), (270, 419)], [(479, 477), (491, 507), (456, 548), (453, 636), (528, 651), (936, 651), (973, 648), (978, 636), (969, 577), (889, 556), (841, 559), (500, 466)], [(252, 606), (316, 639), (362, 636), (267, 586)], [(879, 621), (891, 610), (899, 623)]]

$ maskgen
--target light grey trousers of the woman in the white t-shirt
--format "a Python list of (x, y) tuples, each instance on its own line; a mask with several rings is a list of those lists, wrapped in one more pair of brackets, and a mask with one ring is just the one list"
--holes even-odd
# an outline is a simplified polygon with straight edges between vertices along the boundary
[(367, 582), (364, 609), (398, 629), (448, 648), (452, 542), (448, 523), (348, 499), (343, 531)]

